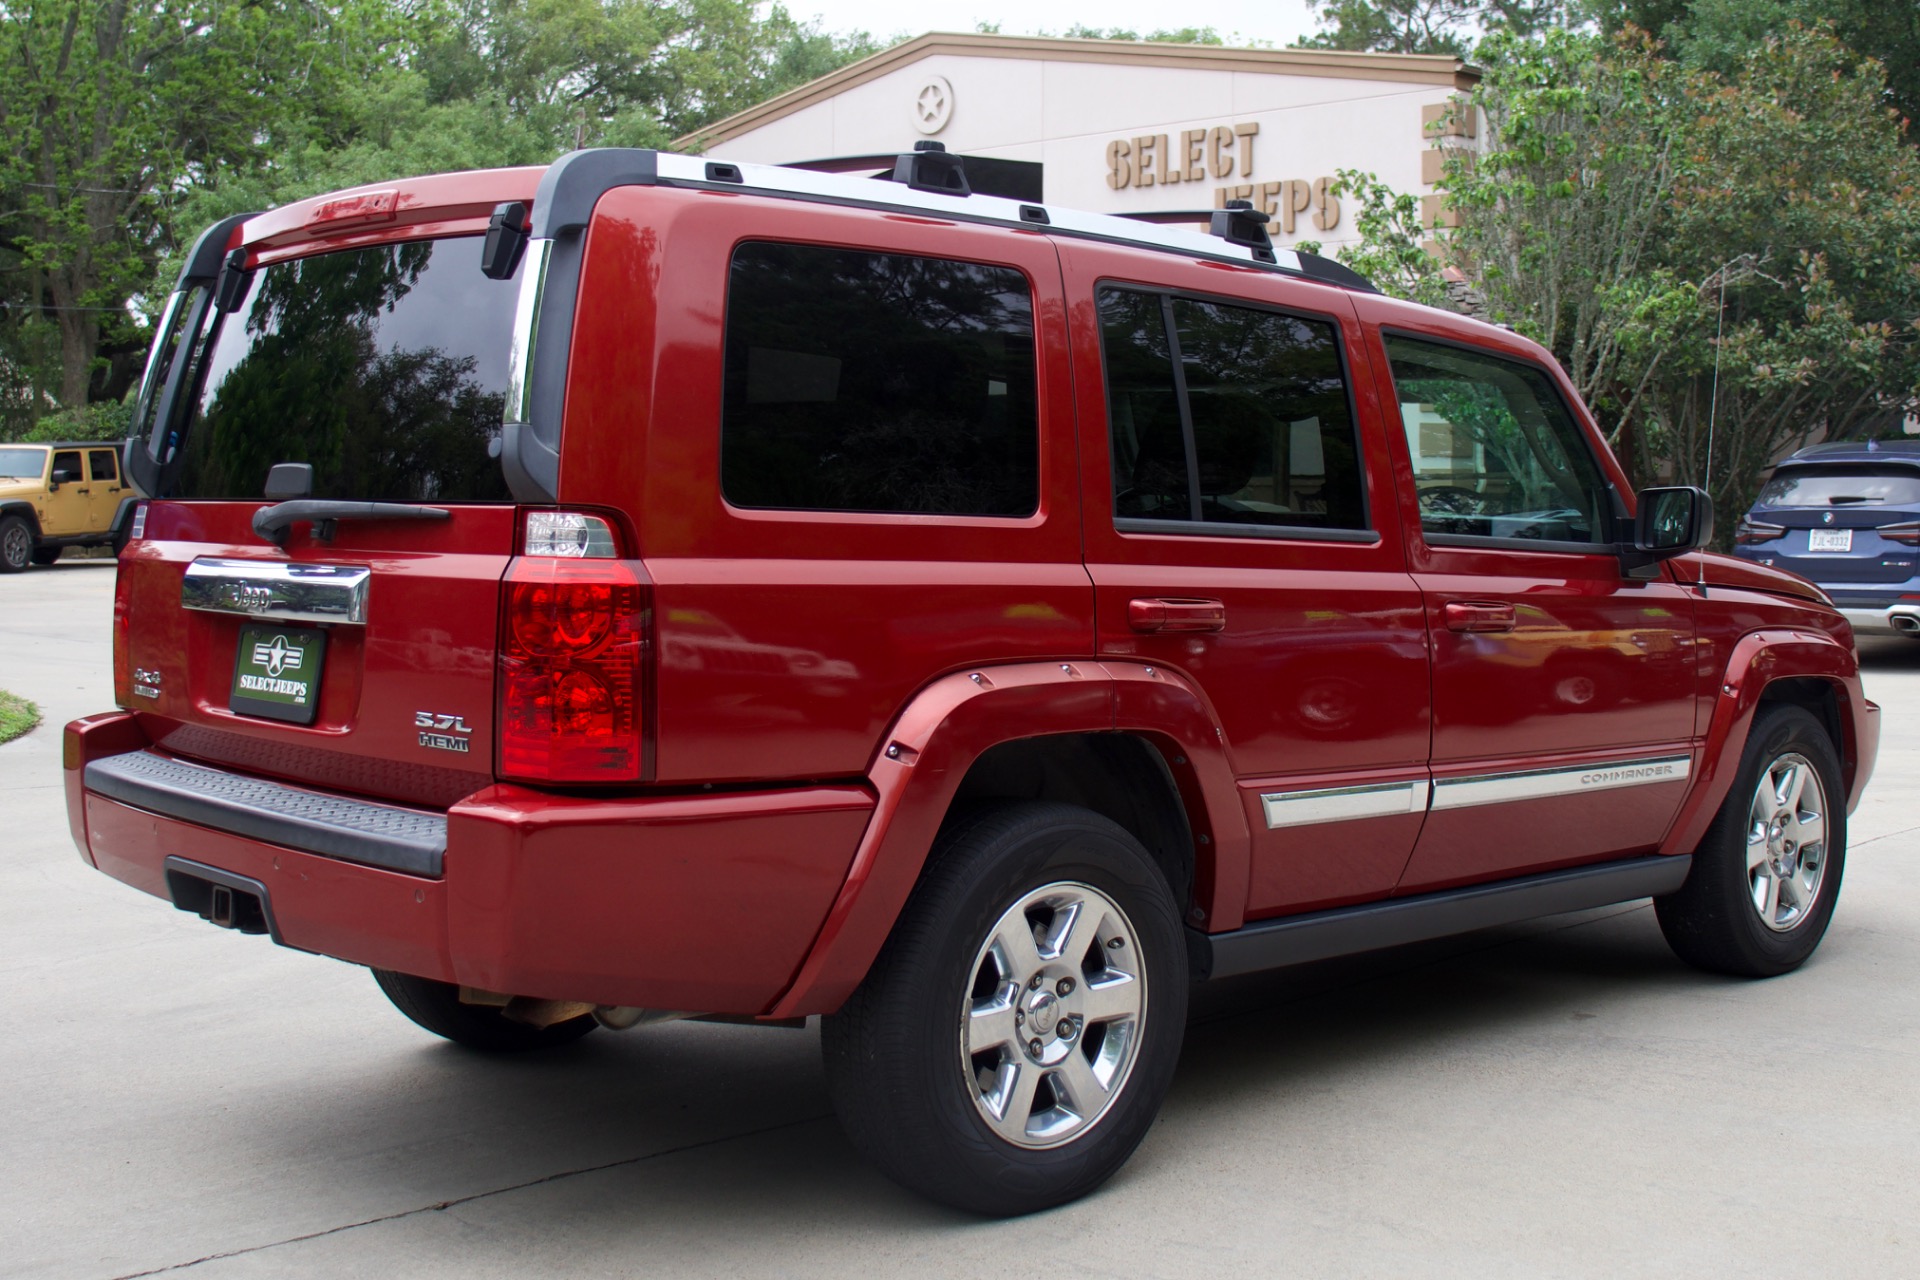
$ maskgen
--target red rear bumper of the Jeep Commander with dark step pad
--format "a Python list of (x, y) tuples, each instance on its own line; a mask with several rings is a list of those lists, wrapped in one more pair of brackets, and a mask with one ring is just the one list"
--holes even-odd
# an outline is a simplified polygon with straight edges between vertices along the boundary
[(516, 996), (701, 1013), (762, 1013), (791, 984), (874, 810), (852, 785), (641, 798), (488, 787), (426, 814), (171, 760), (129, 714), (73, 722), (63, 754), (81, 852), (134, 889), (173, 900), (167, 860), (184, 860), (257, 881), (286, 946)]

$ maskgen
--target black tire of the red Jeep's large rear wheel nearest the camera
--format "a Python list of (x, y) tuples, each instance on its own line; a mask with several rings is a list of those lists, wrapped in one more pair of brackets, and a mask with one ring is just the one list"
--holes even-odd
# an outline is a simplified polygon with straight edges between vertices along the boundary
[[(1052, 892), (1064, 896), (1033, 900)], [(1016, 913), (1027, 900), (1033, 902)], [(1046, 960), (1048, 931), (1081, 936), (1071, 929), (1075, 917), (1066, 913), (1073, 906), (1092, 908), (1085, 912), (1094, 921), (1087, 925), (1085, 950), (1058, 946)], [(1098, 921), (1116, 929), (1094, 933), (1106, 931)], [(1037, 986), (995, 981), (989, 938), (1012, 936), (1016, 927), (1029, 929), (1033, 954), (1060, 975), (1048, 973)], [(1125, 998), (1116, 992), (1127, 986), (1121, 965), (1129, 954), (1144, 979), (1135, 996), (1139, 1013), (1102, 1021), (1100, 1006), (1091, 1002)], [(1069, 981), (1073, 965), (1083, 975), (1077, 986)], [(1048, 1000), (1062, 981), (1069, 990)], [(1014, 1042), (993, 1050), (993, 1061), (1004, 1061), (995, 1075), (979, 1054), (968, 1057), (964, 1046), (973, 1029), (968, 1009), (993, 1004), (1000, 992), (1008, 1002), (1004, 1017), (1021, 1025)], [(1073, 992), (1087, 1004), (1075, 1004)], [(1077, 1011), (1083, 1015), (1075, 1017)], [(977, 810), (941, 833), (866, 981), (839, 1013), (824, 1019), (822, 1050), (833, 1109), (868, 1159), (931, 1199), (973, 1213), (1016, 1215), (1085, 1196), (1133, 1155), (1173, 1080), (1185, 1031), (1187, 938), (1152, 856), (1098, 814), (1018, 802)], [(1046, 1054), (1062, 1054), (1052, 1069), (1044, 1057), (1023, 1057), (1021, 1046), (1041, 1046), (1039, 1036), (1027, 1040), (1033, 1032), (1048, 1036)], [(1066, 1061), (1071, 1054), (1081, 1054), (1081, 1063)], [(1081, 1103), (1092, 1119), (1073, 1117), (1073, 1094), (1056, 1092), (1052, 1080), (1075, 1073), (1085, 1080), (1087, 1071), (1100, 1069), (1110, 1071), (1100, 1109)], [(1025, 1077), (1027, 1071), (1033, 1075)], [(1066, 1115), (1079, 1128), (1056, 1121), (1068, 1136), (1044, 1148), (1008, 1140), (989, 1123), (987, 1103), (975, 1102), (987, 1092), (981, 1080), (989, 1079), (1004, 1084), (1008, 1098), (1016, 1096), (1010, 1080), (1039, 1082), (1029, 1084), (1031, 1105), (1004, 1103), (1020, 1119), (1000, 1121), (1020, 1128), (1029, 1144), (1035, 1138), (1027, 1128), (1044, 1126), (1046, 1117)]]

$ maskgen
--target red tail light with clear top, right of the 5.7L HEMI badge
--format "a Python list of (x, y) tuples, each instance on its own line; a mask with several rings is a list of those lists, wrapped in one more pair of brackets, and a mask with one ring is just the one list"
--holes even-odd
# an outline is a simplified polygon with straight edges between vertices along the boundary
[(653, 583), (597, 516), (530, 512), (522, 547), (501, 583), (499, 777), (643, 781)]

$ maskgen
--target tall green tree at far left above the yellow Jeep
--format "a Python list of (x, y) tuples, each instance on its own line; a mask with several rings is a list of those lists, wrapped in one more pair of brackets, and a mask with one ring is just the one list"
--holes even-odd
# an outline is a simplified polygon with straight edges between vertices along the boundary
[(307, 94), (317, 23), (282, 0), (23, 0), (4, 13), (0, 271), (21, 315), (0, 361), (15, 395), (44, 370), (31, 317), (58, 340), (58, 378), (29, 401), (117, 399), (140, 351), (127, 303), (177, 196), (252, 154)]

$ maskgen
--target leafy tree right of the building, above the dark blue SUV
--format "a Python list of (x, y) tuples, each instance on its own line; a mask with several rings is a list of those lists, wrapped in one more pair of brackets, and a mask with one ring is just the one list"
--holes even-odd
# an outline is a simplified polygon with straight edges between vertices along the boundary
[(1448, 163), (1446, 251), (1638, 480), (1670, 464), (1741, 510), (1782, 451), (1920, 403), (1920, 157), (1878, 63), (1803, 27), (1732, 77), (1632, 35), (1476, 58), (1486, 150)]

